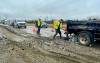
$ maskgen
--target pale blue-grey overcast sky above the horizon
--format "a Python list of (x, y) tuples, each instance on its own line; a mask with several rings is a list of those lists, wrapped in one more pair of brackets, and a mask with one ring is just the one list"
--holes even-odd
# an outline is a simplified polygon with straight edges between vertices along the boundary
[(100, 16), (100, 0), (0, 0), (0, 16), (31, 19)]

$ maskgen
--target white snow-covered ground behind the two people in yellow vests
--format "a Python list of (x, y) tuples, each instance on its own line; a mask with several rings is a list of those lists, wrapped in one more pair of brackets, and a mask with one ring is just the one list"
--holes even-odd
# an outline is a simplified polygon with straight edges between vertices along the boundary
[[(26, 29), (23, 29), (23, 31), (27, 32), (27, 33), (31, 33), (33, 35), (36, 35), (36, 31), (33, 32), (32, 28), (34, 28), (34, 27), (28, 26)], [(64, 31), (61, 30), (61, 32), (62, 32), (62, 36), (65, 37)], [(52, 37), (54, 34), (55, 34), (55, 31), (53, 32), (52, 28), (42, 28), (41, 29), (41, 36), (43, 36), (43, 37)], [(59, 34), (57, 36), (59, 36)]]

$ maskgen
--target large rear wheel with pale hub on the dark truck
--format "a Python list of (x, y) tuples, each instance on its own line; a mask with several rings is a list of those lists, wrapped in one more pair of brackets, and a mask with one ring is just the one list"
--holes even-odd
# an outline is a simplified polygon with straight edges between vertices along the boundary
[(78, 42), (81, 45), (89, 46), (91, 44), (92, 35), (89, 32), (80, 32), (78, 34)]

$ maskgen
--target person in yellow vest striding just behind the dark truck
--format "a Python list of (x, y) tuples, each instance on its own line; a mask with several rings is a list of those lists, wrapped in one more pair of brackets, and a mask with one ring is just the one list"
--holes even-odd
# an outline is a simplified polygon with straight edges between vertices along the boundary
[(62, 34), (61, 34), (61, 28), (62, 28), (62, 19), (61, 20), (54, 20), (53, 21), (53, 26), (55, 28), (55, 34), (53, 36), (53, 39), (55, 39), (56, 35), (59, 33), (60, 35), (60, 39), (62, 38)]

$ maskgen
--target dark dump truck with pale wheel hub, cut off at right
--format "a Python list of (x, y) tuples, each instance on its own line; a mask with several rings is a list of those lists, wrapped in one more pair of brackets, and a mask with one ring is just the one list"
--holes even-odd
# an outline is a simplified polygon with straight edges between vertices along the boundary
[(74, 34), (74, 41), (85, 46), (89, 46), (100, 40), (100, 21), (68, 20), (66, 23), (66, 38), (68, 38), (68, 34)]

